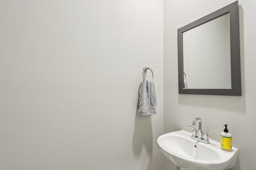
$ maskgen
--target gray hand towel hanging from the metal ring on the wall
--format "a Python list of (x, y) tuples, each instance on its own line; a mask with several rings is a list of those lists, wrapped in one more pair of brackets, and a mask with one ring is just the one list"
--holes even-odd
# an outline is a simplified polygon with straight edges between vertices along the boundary
[(156, 90), (152, 78), (144, 78), (140, 88), (139, 111), (141, 115), (155, 115), (156, 109)]

